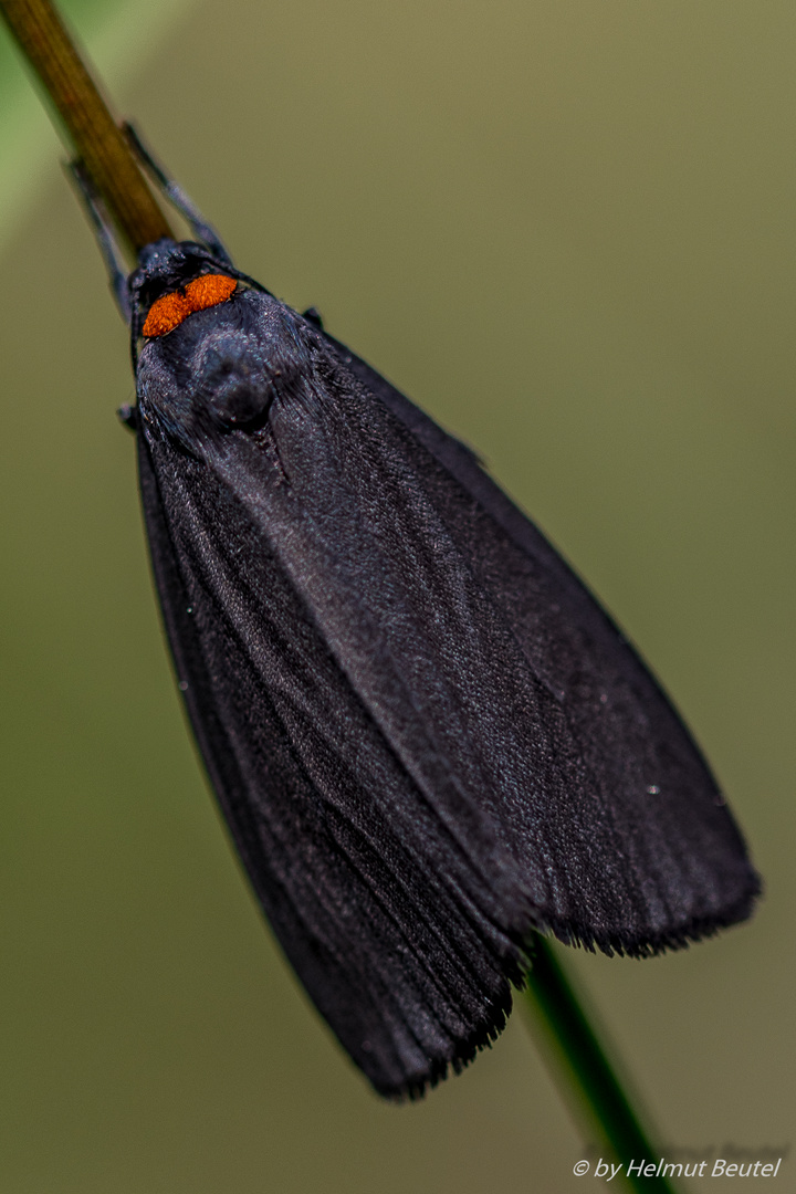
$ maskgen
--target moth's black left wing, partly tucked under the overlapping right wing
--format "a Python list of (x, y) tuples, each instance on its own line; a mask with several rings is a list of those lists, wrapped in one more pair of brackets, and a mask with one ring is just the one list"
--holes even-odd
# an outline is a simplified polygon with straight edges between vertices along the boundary
[(138, 461), (177, 676), (251, 882), (354, 1061), (415, 1096), (501, 1029), (518, 950), (457, 890), (461, 860), (443, 878), (433, 814), (230, 491), (163, 439), (141, 433)]

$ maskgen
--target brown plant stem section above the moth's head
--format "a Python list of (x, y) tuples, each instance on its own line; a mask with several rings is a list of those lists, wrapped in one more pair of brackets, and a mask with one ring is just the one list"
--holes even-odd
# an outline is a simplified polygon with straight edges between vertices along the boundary
[(61, 113), (69, 142), (135, 256), (171, 236), (130, 147), (49, 0), (0, 0), (0, 12)]

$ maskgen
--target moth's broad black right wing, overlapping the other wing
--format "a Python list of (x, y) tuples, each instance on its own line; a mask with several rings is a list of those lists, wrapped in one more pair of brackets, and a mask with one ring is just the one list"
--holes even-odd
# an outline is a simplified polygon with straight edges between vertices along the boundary
[(241, 444), (230, 484), (479, 906), (512, 940), (633, 954), (748, 915), (742, 839), (633, 648), (471, 454), (338, 361), (274, 401), (273, 460)]

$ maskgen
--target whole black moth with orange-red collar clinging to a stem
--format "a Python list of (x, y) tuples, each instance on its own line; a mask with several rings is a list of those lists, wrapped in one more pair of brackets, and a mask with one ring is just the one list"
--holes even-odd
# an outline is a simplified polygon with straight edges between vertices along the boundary
[(416, 1096), (504, 1027), (535, 930), (646, 956), (747, 917), (758, 879), (655, 681), (473, 453), (137, 149), (197, 242), (129, 279), (76, 173), (179, 687), (282, 948), (374, 1087)]

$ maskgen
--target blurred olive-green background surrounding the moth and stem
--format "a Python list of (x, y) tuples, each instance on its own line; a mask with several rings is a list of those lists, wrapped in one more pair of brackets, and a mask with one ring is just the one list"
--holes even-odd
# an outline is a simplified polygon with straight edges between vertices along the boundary
[[(779, 1155), (792, 2), (70, 11), (237, 264), (477, 445), (692, 725), (766, 879), (758, 916), (652, 961), (563, 953), (669, 1152)], [(424, 1103), (382, 1104), (272, 947), (161, 641), (113, 413), (132, 398), (125, 332), (6, 41), (0, 1189), (585, 1192), (519, 1016)]]

